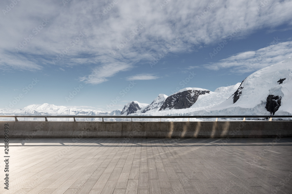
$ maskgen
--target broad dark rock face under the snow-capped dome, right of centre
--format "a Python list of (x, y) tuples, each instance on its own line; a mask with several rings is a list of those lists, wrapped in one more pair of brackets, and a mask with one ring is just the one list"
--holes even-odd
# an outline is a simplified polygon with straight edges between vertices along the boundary
[(204, 95), (206, 93), (210, 93), (209, 90), (186, 90), (183, 92), (179, 92), (173, 94), (166, 98), (165, 102), (162, 104), (161, 110), (165, 110), (166, 108), (174, 108), (174, 109), (183, 109), (190, 108), (197, 101), (199, 95)]

